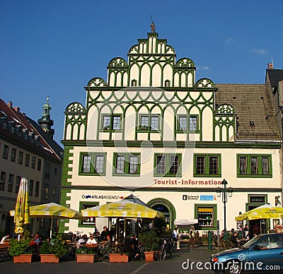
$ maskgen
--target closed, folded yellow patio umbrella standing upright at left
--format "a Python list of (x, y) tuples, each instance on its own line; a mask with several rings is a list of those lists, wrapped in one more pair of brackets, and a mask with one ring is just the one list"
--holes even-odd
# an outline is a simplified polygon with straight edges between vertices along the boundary
[(30, 223), (28, 208), (28, 179), (22, 178), (18, 189), (16, 208), (14, 214), (15, 233), (23, 233), (23, 225)]

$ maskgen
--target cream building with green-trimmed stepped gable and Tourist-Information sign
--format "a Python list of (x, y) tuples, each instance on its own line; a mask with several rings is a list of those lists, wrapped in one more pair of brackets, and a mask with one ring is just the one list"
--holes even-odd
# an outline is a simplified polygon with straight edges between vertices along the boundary
[[(196, 218), (207, 231), (224, 227), (224, 178), (233, 189), (227, 229), (240, 225), (240, 211), (281, 197), (281, 139), (267, 85), (216, 85), (195, 74), (191, 59), (177, 60), (150, 32), (127, 61), (109, 62), (107, 81), (91, 79), (86, 105), (65, 111), (62, 204), (81, 210), (134, 193), (168, 227)], [(66, 220), (60, 230), (91, 232), (105, 222)]]

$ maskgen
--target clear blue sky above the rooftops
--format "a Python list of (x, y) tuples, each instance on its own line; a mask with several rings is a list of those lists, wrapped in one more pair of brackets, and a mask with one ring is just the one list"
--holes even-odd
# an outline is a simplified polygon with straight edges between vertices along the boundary
[(151, 16), (197, 80), (265, 83), (267, 63), (283, 68), (282, 10), (282, 0), (0, 0), (0, 97), (37, 121), (49, 95), (59, 142), (67, 105), (85, 105), (83, 86), (127, 59)]

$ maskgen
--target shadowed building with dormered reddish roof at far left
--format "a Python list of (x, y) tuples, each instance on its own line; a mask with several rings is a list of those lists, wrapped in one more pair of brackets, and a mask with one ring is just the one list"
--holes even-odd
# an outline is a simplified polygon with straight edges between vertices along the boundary
[[(51, 135), (12, 102), (0, 100), (1, 231), (13, 234), (9, 211), (15, 208), (21, 177), (28, 179), (30, 205), (59, 203), (64, 150), (53, 140), (54, 130), (50, 131)], [(28, 228), (45, 236), (49, 227), (50, 219), (33, 218)]]

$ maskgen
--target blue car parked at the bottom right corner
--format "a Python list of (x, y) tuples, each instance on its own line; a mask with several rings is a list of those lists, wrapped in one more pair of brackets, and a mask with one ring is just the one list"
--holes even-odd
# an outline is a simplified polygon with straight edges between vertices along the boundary
[(283, 233), (260, 234), (241, 247), (212, 254), (210, 262), (215, 272), (280, 272), (283, 270)]

